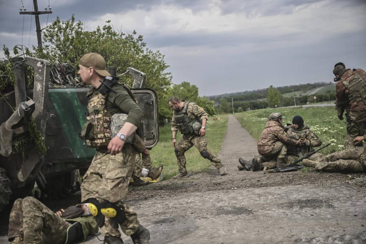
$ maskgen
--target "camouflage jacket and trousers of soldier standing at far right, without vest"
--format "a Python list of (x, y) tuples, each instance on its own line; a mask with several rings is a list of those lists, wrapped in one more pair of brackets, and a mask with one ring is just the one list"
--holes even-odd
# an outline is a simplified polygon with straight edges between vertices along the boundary
[[(338, 66), (337, 66), (338, 67)], [(336, 74), (337, 67), (333, 70)], [(343, 68), (343, 67), (338, 67)], [(349, 81), (355, 77), (355, 71), (364, 80), (363, 86), (366, 82), (366, 72), (362, 69), (345, 69), (340, 73), (340, 79), (344, 81)], [(356, 102), (355, 100), (350, 100), (350, 91), (346, 88), (341, 80), (336, 83), (336, 109), (338, 111), (338, 117), (343, 119), (343, 112), (346, 110), (346, 129), (347, 134), (345, 137), (344, 146), (346, 149), (350, 149), (354, 146), (362, 146), (362, 143), (354, 145), (352, 140), (358, 135), (364, 135), (365, 121), (366, 121), (366, 104), (364, 102)], [(362, 131), (361, 131), (362, 130)]]

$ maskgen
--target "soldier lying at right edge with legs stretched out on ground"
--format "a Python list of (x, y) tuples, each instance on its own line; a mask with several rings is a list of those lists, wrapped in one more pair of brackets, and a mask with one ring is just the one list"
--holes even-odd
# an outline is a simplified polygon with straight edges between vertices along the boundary
[[(356, 144), (365, 140), (366, 136), (357, 136), (352, 142)], [(326, 156), (317, 154), (317, 160), (304, 159), (303, 165), (318, 171), (366, 172), (366, 147), (352, 147)]]

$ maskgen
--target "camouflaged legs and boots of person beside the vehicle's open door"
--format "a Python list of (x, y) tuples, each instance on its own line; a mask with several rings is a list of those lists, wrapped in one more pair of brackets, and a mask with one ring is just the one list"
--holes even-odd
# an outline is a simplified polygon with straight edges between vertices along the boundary
[[(142, 155), (142, 159), (141, 159)], [(141, 154), (136, 153), (134, 172), (132, 173), (133, 186), (139, 187), (149, 184), (149, 181), (143, 181), (140, 176), (150, 177), (152, 180), (156, 180), (163, 170), (163, 164), (160, 164), (158, 168), (153, 168), (150, 158), (149, 149), (145, 149)]]

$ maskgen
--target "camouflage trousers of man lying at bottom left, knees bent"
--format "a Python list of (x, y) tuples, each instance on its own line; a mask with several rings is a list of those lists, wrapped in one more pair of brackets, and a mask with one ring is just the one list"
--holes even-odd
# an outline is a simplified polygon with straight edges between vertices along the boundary
[(15, 239), (12, 244), (61, 244), (66, 241), (69, 226), (70, 223), (29, 196), (15, 200), (9, 217), (8, 238), (9, 241)]

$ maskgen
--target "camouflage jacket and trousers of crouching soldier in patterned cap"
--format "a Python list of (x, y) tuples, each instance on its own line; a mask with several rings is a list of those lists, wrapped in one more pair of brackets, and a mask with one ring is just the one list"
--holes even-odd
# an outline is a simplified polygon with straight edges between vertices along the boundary
[(287, 154), (285, 144), (296, 146), (298, 142), (288, 138), (279, 121), (267, 121), (257, 143), (258, 153), (262, 156), (261, 162), (264, 162), (262, 163), (264, 167), (276, 168), (277, 158), (284, 159)]

